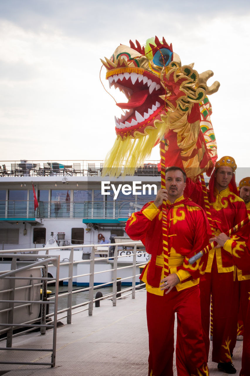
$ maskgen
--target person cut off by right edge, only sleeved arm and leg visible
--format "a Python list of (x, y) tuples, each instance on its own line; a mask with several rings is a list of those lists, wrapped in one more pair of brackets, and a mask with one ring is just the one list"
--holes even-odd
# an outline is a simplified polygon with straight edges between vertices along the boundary
[[(248, 179), (248, 178), (247, 178)], [(240, 187), (241, 182), (240, 182)], [(248, 223), (242, 230), (239, 230), (232, 237), (227, 237), (226, 234), (220, 233), (215, 237), (215, 241), (223, 247), (230, 257), (233, 259), (234, 264), (238, 270), (243, 273), (249, 273), (250, 270), (250, 223)], [(247, 242), (243, 241), (244, 234), (248, 236)], [(240, 237), (239, 237), (240, 235)], [(243, 349), (242, 349), (242, 364), (239, 376), (249, 376), (250, 374), (250, 290), (248, 291), (248, 308), (244, 320), (244, 336), (243, 336)], [(243, 312), (243, 311), (242, 311)]]

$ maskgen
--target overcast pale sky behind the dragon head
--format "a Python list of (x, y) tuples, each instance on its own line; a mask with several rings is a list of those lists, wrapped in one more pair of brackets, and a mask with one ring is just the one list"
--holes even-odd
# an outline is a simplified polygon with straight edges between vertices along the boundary
[(172, 42), (182, 64), (214, 71), (218, 156), (250, 166), (249, 25), (243, 0), (0, 0), (0, 159), (104, 159), (120, 109), (101, 85), (99, 59), (120, 43), (157, 35)]

